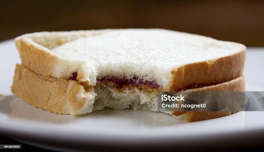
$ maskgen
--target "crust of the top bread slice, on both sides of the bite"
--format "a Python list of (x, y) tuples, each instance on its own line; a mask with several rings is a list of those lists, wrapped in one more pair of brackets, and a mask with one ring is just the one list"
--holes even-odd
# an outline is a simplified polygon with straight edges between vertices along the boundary
[[(70, 69), (70, 67), (67, 67), (69, 59), (63, 58), (49, 49), (79, 38), (94, 36), (113, 30), (116, 29), (32, 33), (17, 37), (15, 43), (20, 53), (22, 65), (37, 74), (68, 79), (71, 73), (78, 72), (83, 62), (76, 61), (74, 64), (77, 65), (75, 66), (77, 69), (71, 69), (68, 74), (60, 75), (56, 67)], [(40, 41), (39, 39), (43, 40)], [(49, 46), (49, 43), (52, 45)], [(239, 43), (234, 43), (234, 45), (241, 45), (243, 49), (229, 56), (187, 64), (173, 69), (171, 74), (167, 76), (169, 83), (164, 86), (164, 89), (166, 91), (179, 91), (196, 85), (210, 86), (241, 76), (246, 60), (246, 46)], [(81, 75), (78, 76), (82, 77)]]

